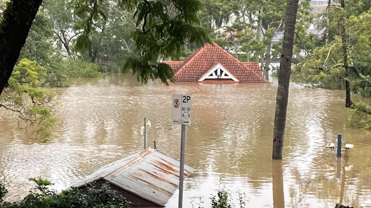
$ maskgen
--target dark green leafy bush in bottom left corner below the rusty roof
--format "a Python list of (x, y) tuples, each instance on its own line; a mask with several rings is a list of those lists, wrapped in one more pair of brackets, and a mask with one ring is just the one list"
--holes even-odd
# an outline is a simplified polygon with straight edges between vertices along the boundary
[[(72, 187), (57, 194), (49, 190), (47, 186), (53, 185), (47, 180), (30, 178), (36, 183), (37, 192), (30, 191), (26, 197), (17, 202), (2, 202), (1, 208), (127, 208), (130, 203), (117, 191), (112, 190), (108, 184), (95, 189), (92, 185), (86, 193)], [(6, 189), (0, 184), (0, 194), (6, 193)], [(3, 197), (4, 195), (0, 195)], [(0, 198), (1, 200), (1, 198)]]

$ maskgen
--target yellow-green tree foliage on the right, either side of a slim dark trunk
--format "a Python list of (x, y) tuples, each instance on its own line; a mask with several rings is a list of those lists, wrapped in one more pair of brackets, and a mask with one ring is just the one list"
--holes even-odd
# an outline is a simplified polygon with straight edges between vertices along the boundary
[[(345, 12), (345, 11), (343, 11)], [(338, 12), (334, 16), (339, 18)], [(371, 84), (371, 10), (359, 16), (352, 15), (346, 21), (348, 37), (348, 60), (351, 91), (368, 97)], [(339, 30), (334, 22), (330, 23), (333, 30)], [(329, 27), (330, 27), (329, 26)], [(309, 84), (312, 87), (328, 89), (344, 89), (344, 64), (342, 63), (342, 40), (339, 34), (323, 46), (315, 47), (293, 71), (295, 81)]]

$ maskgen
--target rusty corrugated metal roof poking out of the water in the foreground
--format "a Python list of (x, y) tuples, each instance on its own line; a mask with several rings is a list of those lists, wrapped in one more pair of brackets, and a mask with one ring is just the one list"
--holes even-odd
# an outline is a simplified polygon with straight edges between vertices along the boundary
[[(180, 162), (149, 147), (139, 153), (101, 167), (73, 185), (83, 187), (105, 180), (150, 202), (165, 206), (179, 187)], [(184, 165), (184, 178), (193, 168)]]

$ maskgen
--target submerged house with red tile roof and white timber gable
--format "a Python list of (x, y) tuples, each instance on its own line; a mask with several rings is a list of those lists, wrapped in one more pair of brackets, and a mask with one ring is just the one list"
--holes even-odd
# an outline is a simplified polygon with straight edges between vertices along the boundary
[(162, 61), (174, 70), (177, 82), (267, 83), (257, 62), (240, 62), (216, 43), (205, 44), (182, 61)]

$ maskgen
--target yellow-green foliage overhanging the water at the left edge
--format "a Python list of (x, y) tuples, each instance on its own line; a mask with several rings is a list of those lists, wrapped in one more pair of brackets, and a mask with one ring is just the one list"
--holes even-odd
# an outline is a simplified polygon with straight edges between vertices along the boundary
[(0, 107), (18, 113), (24, 122), (18, 125), (30, 138), (46, 141), (55, 123), (53, 109), (57, 104), (52, 90), (43, 88), (47, 69), (26, 58), (14, 67), (9, 87), (0, 96)]

